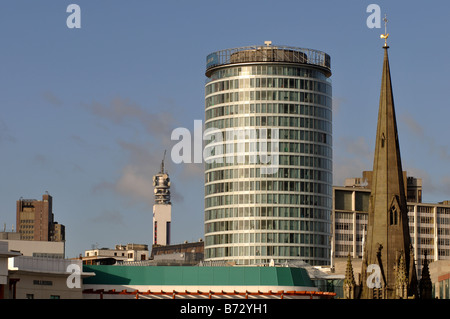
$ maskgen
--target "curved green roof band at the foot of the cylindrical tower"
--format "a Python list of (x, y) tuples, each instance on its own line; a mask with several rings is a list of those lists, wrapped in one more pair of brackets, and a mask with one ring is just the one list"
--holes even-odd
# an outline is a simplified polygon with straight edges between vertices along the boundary
[(314, 287), (303, 268), (83, 265), (95, 276), (87, 285), (306, 286)]

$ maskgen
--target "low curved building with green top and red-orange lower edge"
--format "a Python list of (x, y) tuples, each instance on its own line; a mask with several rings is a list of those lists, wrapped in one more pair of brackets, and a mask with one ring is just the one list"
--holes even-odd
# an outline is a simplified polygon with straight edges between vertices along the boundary
[(300, 267), (84, 265), (85, 299), (334, 298)]

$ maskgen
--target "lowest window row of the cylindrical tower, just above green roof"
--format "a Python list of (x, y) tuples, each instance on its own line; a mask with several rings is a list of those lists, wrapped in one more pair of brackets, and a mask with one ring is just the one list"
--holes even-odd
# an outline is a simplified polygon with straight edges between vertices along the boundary
[[(320, 264), (318, 258), (328, 258), (329, 249), (326, 247), (317, 246), (236, 246), (236, 247), (215, 247), (205, 249), (205, 258), (218, 258), (218, 257), (255, 257), (255, 256), (267, 256), (267, 257), (302, 257), (302, 260), (308, 261), (308, 257), (314, 258), (312, 265)], [(305, 258), (306, 257), (306, 258)], [(276, 259), (276, 258), (274, 258)], [(255, 260), (256, 263), (257, 260)], [(326, 263), (324, 260), (323, 262)]]

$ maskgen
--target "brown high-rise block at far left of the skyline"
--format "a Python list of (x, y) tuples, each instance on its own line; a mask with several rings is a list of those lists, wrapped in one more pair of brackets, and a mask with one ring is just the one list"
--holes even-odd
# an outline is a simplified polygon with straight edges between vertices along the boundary
[(16, 202), (16, 228), (23, 240), (64, 241), (65, 227), (54, 221), (53, 198), (42, 200), (20, 198)]

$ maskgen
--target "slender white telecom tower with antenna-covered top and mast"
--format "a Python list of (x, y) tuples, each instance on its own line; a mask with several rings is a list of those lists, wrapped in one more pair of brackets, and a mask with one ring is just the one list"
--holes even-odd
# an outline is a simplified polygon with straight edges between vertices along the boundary
[[(164, 153), (165, 155), (165, 153)], [(153, 245), (170, 245), (170, 223), (172, 221), (172, 203), (170, 202), (170, 178), (164, 170), (153, 176), (155, 205), (153, 205)]]

